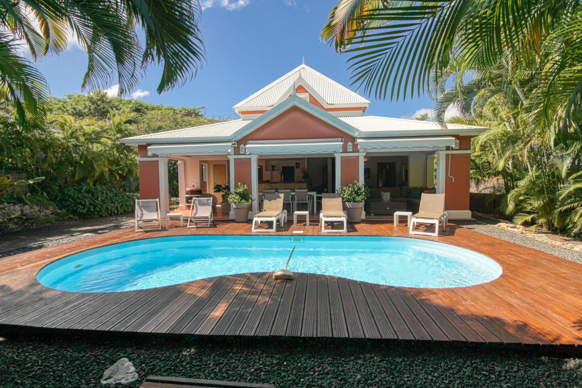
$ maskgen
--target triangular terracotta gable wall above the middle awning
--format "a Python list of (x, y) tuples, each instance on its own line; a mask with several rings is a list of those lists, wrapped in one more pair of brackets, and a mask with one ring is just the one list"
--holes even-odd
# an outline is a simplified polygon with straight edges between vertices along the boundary
[[(292, 140), (292, 139), (320, 139), (343, 138), (342, 152), (347, 152), (347, 142), (353, 144), (353, 152), (358, 151), (356, 139), (342, 130), (324, 122), (311, 113), (292, 106), (276, 118), (263, 124), (247, 136), (237, 141), (237, 144), (247, 144), (249, 140)], [(235, 153), (239, 154), (239, 147)]]

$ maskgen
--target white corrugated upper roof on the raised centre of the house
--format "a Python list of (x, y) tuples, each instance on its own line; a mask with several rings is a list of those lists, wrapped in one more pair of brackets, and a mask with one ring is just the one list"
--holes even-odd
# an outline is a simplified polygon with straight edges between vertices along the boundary
[(289, 95), (293, 83), (299, 83), (298, 80), (307, 83), (313, 88), (324, 100), (320, 101), (322, 104), (333, 105), (338, 108), (347, 106), (363, 106), (367, 108), (370, 105), (370, 101), (361, 97), (361, 95), (316, 72), (311, 67), (301, 65), (250, 97), (243, 99), (239, 104), (233, 106), (233, 109), (239, 112), (272, 108), (272, 106), (276, 105), (276, 102), (280, 101), (282, 96)]

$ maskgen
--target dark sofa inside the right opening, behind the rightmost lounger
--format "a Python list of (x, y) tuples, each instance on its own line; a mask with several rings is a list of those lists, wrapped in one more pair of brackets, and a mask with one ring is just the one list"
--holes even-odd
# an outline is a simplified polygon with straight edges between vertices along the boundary
[[(369, 215), (393, 215), (395, 212), (418, 212), (420, 198), (410, 198), (410, 191), (421, 193), (436, 193), (432, 187), (373, 187), (370, 188), (370, 198), (366, 200), (365, 212)], [(382, 201), (382, 192), (390, 193), (390, 201)]]

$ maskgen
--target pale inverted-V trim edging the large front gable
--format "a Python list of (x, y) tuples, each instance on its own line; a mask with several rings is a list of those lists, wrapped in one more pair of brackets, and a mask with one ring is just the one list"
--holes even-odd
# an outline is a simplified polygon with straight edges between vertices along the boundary
[(311, 113), (311, 115), (317, 117), (318, 119), (324, 120), (324, 122), (331, 124), (332, 126), (336, 127), (337, 129), (344, 131), (345, 133), (356, 137), (358, 134), (358, 130), (351, 126), (350, 124), (343, 122), (342, 120), (336, 118), (333, 115), (330, 115), (328, 112), (325, 112), (323, 109), (318, 108), (317, 106), (310, 104), (309, 102), (305, 101), (303, 98), (297, 97), (296, 95), (292, 95), (291, 97), (285, 99), (285, 101), (281, 102), (278, 105), (275, 105), (269, 111), (263, 113), (260, 117), (252, 120), (250, 123), (243, 126), (241, 129), (237, 130), (235, 133), (232, 134), (232, 138), (235, 140), (239, 140), (244, 136), (247, 136), (249, 133), (257, 129), (258, 127), (268, 123), (272, 119), (279, 116), (281, 113), (287, 111), (289, 108), (293, 106), (297, 106), (297, 108), (303, 109), (307, 113)]

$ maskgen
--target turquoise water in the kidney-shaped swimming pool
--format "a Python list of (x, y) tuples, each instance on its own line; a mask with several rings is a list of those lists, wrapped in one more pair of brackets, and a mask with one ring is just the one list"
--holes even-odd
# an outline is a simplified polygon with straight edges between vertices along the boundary
[(38, 282), (63, 291), (149, 289), (243, 272), (347, 277), (402, 287), (448, 288), (501, 275), (492, 259), (448, 244), (402, 237), (175, 236), (127, 241), (70, 255), (45, 266)]

